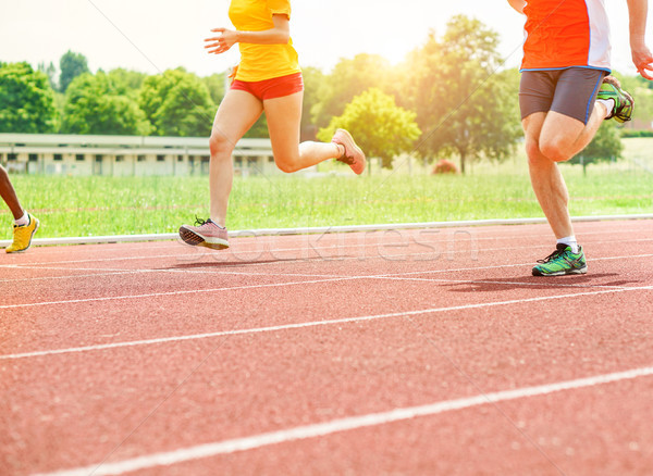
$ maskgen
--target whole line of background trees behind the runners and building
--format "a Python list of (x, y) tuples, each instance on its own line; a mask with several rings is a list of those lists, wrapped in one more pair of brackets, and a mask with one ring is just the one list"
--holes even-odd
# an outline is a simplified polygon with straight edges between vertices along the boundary
[[(403, 153), (424, 162), (457, 156), (463, 172), (471, 161), (503, 160), (522, 133), (519, 73), (503, 67), (497, 47), (496, 32), (458, 15), (441, 38), (431, 33), (398, 65), (358, 54), (330, 74), (305, 67), (303, 138), (330, 140), (345, 127), (386, 167)], [(223, 73), (198, 77), (184, 68), (93, 74), (86, 58), (72, 51), (57, 73), (52, 63), (37, 70), (0, 63), (0, 133), (208, 136), (225, 88)], [(653, 85), (621, 80), (638, 98), (636, 117), (653, 118)], [(261, 117), (248, 136), (267, 134)], [(596, 140), (620, 146), (612, 124)]]

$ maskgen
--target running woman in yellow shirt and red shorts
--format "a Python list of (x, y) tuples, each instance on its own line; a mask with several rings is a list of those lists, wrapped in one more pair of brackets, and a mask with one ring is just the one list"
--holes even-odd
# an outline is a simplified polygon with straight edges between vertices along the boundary
[(239, 45), (238, 65), (211, 130), (209, 168), (211, 216), (197, 226), (183, 225), (181, 238), (188, 245), (229, 248), (225, 228), (232, 188), (232, 152), (236, 142), (264, 111), (276, 166), (296, 172), (329, 159), (349, 164), (361, 174), (366, 158), (354, 139), (338, 129), (331, 143), (299, 143), (304, 83), (297, 52), (289, 36), (289, 0), (232, 0), (229, 15), (236, 30), (214, 28), (209, 53), (221, 54)]

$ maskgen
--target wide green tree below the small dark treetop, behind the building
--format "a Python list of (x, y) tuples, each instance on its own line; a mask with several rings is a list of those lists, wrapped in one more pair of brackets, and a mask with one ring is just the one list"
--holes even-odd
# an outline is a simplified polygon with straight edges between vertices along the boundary
[(98, 135), (148, 135), (149, 123), (124, 85), (111, 75), (85, 73), (71, 83), (66, 92), (62, 133)]

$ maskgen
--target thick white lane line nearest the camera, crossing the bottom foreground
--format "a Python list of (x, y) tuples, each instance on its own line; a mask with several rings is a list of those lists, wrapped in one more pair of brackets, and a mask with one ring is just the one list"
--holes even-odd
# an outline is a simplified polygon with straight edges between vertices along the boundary
[(496, 404), (510, 400), (527, 399), (532, 397), (547, 396), (560, 391), (577, 390), (595, 387), (600, 385), (615, 384), (623, 380), (633, 380), (653, 375), (653, 367), (633, 368), (613, 374), (595, 375), (592, 377), (578, 378), (574, 380), (557, 381), (553, 384), (522, 387), (514, 390), (504, 390), (493, 393), (481, 393), (455, 400), (445, 400), (418, 406), (406, 406), (387, 412), (368, 413), (366, 415), (349, 416), (332, 419), (330, 422), (312, 425), (297, 426), (279, 431), (263, 433), (245, 438), (215, 441), (212, 443), (197, 444), (195, 447), (181, 448), (174, 451), (147, 454), (130, 460), (112, 463), (98, 463), (86, 467), (63, 469), (47, 473), (41, 476), (107, 476), (121, 475), (139, 469), (148, 469), (158, 466), (180, 464), (187, 461), (201, 460), (206, 458), (230, 454), (239, 451), (256, 450), (271, 444), (286, 443), (289, 441), (320, 438), (329, 435), (350, 431), (360, 428), (370, 428), (387, 425), (395, 422), (404, 422), (418, 417), (433, 416), (446, 412), (470, 409), (486, 404)]

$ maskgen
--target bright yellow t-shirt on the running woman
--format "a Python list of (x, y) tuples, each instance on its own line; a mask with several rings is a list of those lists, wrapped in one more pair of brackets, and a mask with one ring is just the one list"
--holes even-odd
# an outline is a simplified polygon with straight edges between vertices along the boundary
[[(291, 0), (232, 0), (229, 17), (239, 32), (263, 32), (274, 27), (273, 14), (291, 18)], [(236, 79), (260, 82), (299, 73), (293, 40), (287, 45), (238, 43), (241, 64)]]

